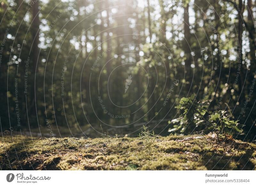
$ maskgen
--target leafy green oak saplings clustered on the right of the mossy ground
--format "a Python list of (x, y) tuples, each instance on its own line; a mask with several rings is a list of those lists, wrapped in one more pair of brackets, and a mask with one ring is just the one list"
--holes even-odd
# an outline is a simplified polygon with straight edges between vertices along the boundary
[(230, 120), (226, 111), (218, 111), (210, 114), (207, 111), (208, 101), (197, 101), (195, 94), (191, 97), (183, 97), (175, 108), (182, 111), (179, 118), (169, 121), (173, 128), (168, 132), (191, 133), (201, 131), (204, 134), (215, 132), (219, 139), (220, 134), (235, 135), (241, 133), (238, 120)]

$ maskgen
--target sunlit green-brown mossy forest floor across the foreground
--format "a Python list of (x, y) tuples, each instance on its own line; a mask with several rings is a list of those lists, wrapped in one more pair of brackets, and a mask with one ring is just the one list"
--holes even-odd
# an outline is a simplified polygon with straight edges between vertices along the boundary
[(210, 136), (0, 140), (2, 170), (255, 170), (256, 144)]

